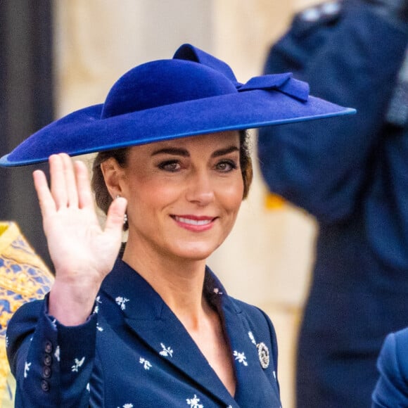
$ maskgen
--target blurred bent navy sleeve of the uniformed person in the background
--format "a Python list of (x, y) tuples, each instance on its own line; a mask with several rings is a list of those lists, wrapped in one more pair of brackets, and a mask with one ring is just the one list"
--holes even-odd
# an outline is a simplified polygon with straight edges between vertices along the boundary
[(260, 170), (270, 191), (323, 222), (355, 209), (404, 58), (407, 33), (355, 1), (330, 24), (291, 30), (272, 47), (266, 73), (293, 71), (311, 94), (357, 115), (260, 129)]

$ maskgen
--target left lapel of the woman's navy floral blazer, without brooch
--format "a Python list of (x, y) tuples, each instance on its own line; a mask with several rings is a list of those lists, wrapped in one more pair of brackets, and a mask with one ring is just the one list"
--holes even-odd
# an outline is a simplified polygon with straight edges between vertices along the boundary
[(134, 269), (117, 260), (101, 291), (117, 302), (128, 326), (162, 357), (163, 364), (176, 366), (198, 388), (206, 388), (226, 407), (236, 407), (236, 401), (179, 319)]

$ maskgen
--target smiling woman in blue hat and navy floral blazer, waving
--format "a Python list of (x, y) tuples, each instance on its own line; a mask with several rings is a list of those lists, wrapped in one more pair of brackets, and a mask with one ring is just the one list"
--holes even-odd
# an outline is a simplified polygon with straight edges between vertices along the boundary
[[(346, 113), (288, 74), (240, 84), (184, 45), (2, 158), (49, 158), (51, 172), (51, 189), (39, 171), (34, 184), (56, 279), (8, 325), (16, 406), (279, 407), (271, 321), (205, 262), (250, 186), (242, 129)], [(69, 158), (95, 151), (103, 229), (86, 167)]]

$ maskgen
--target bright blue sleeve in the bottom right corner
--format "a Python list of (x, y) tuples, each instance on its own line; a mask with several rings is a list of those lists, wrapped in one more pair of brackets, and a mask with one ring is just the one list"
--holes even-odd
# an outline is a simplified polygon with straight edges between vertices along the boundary
[(408, 329), (385, 338), (378, 357), (380, 378), (372, 395), (372, 408), (408, 406)]

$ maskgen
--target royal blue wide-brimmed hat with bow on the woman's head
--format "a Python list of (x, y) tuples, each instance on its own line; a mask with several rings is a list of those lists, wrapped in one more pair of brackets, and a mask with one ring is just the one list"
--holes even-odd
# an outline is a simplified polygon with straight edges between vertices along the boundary
[(190, 44), (172, 59), (129, 70), (105, 103), (70, 113), (32, 134), (0, 159), (5, 167), (82, 155), (184, 136), (281, 125), (355, 113), (309, 95), (291, 73), (253, 77), (246, 84), (222, 60)]

